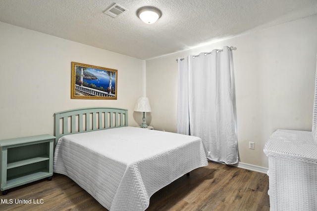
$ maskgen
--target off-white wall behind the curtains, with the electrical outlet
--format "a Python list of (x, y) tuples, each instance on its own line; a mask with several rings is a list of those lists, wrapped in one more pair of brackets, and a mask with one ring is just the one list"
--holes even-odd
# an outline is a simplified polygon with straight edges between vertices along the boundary
[[(146, 61), (151, 124), (176, 131), (177, 63), (200, 52), (233, 51), (240, 162), (267, 168), (265, 141), (278, 128), (310, 130), (317, 53), (317, 15)], [(255, 150), (249, 149), (255, 142)]]

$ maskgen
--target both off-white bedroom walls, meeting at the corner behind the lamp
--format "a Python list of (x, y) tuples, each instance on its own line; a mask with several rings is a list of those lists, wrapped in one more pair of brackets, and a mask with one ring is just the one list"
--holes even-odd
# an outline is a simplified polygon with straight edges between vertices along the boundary
[[(148, 125), (175, 132), (175, 59), (233, 45), (237, 47), (233, 54), (240, 162), (267, 167), (263, 147), (274, 130), (311, 130), (316, 26), (317, 15), (145, 64), (144, 60), (0, 22), (0, 139), (53, 134), (54, 112), (82, 107), (127, 108), (129, 125), (137, 126), (142, 115), (133, 108), (145, 94), (153, 110), (147, 115)], [(70, 99), (72, 61), (117, 69), (118, 99)], [(249, 141), (255, 142), (255, 150), (248, 149)]]

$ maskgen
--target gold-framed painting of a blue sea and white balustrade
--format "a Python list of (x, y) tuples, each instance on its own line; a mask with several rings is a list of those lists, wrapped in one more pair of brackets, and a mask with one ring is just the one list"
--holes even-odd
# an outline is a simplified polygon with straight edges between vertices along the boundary
[(118, 71), (71, 63), (72, 99), (117, 99)]

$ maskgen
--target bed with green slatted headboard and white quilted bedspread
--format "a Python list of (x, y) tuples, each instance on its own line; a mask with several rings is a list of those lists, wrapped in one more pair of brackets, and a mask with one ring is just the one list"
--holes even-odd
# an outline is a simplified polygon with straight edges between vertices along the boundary
[(76, 109), (54, 117), (53, 171), (109, 211), (144, 211), (159, 189), (208, 165), (200, 138), (128, 127), (126, 109)]

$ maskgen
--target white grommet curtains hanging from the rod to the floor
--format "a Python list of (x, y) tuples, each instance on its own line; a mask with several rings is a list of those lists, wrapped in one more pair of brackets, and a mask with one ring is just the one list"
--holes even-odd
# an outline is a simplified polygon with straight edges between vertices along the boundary
[(208, 159), (238, 163), (232, 51), (178, 58), (177, 132), (203, 139)]

